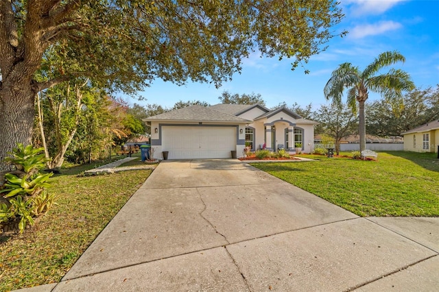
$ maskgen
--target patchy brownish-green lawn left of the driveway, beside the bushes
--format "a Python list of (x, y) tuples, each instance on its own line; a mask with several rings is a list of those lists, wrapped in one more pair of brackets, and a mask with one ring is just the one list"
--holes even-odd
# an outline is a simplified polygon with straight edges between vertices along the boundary
[(78, 177), (96, 166), (61, 169), (49, 189), (58, 206), (24, 234), (0, 234), (0, 291), (60, 281), (152, 172)]

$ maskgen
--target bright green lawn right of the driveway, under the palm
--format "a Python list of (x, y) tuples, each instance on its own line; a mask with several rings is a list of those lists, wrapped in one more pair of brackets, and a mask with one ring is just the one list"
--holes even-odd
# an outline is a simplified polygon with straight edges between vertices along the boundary
[(379, 152), (377, 161), (302, 157), (319, 160), (252, 165), (359, 216), (439, 217), (437, 154)]

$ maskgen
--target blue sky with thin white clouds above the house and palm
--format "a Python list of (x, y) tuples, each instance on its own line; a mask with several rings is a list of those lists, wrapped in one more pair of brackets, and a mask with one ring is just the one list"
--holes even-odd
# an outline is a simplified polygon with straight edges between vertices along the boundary
[[(344, 37), (329, 41), (327, 51), (312, 56), (305, 69), (291, 70), (291, 60), (260, 58), (253, 53), (244, 60), (241, 74), (220, 88), (211, 84), (188, 82), (176, 86), (156, 80), (141, 93), (145, 100), (127, 98), (130, 104), (160, 104), (171, 107), (179, 101), (200, 100), (219, 103), (224, 90), (230, 93), (260, 93), (268, 108), (285, 101), (309, 103), (313, 108), (327, 104), (323, 88), (331, 72), (343, 62), (351, 62), (364, 69), (383, 51), (397, 50), (406, 58), (401, 68), (412, 76), (416, 87), (427, 88), (439, 84), (439, 0), (341, 0), (345, 14), (335, 32), (348, 30)], [(379, 95), (369, 95), (370, 100)]]

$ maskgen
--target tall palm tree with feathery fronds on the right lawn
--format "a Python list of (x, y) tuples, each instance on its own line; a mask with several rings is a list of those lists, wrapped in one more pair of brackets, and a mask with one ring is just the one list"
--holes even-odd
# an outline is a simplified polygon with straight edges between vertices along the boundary
[(332, 99), (336, 106), (342, 105), (342, 96), (348, 89), (347, 104), (355, 113), (359, 104), (359, 151), (366, 149), (366, 123), (364, 117), (364, 103), (368, 99), (369, 91), (379, 93), (386, 100), (395, 103), (401, 101), (401, 92), (413, 90), (414, 83), (408, 73), (400, 69), (390, 69), (388, 73), (377, 75), (385, 66), (396, 62), (405, 62), (405, 58), (398, 51), (381, 53), (364, 71), (359, 71), (351, 63), (343, 63), (335, 69), (324, 86), (324, 97)]

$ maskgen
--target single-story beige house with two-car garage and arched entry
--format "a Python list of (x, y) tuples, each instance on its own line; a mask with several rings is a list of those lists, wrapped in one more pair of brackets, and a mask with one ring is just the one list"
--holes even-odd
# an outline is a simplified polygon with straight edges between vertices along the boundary
[(154, 156), (169, 151), (169, 159), (230, 158), (230, 151), (243, 154), (246, 143), (251, 149), (272, 151), (283, 145), (294, 151), (313, 150), (315, 121), (302, 119), (287, 108), (268, 110), (259, 104), (217, 104), (189, 106), (143, 119), (151, 126)]

